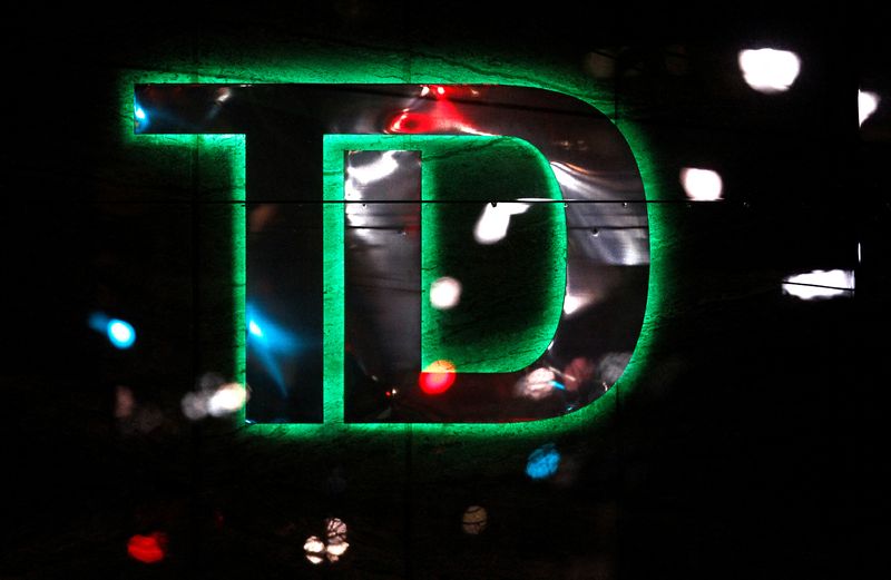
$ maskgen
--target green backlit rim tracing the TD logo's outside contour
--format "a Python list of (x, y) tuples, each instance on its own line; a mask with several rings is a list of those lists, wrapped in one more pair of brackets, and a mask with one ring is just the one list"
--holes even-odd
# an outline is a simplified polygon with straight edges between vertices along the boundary
[[(382, 51), (380, 56), (384, 56)], [(241, 209), (233, 215), (233, 236), (236, 255), (233, 256), (233, 293), (235, 304), (244, 305), (245, 301), (245, 213), (244, 213), (244, 174), (245, 154), (244, 136), (233, 135), (204, 135), (204, 136), (178, 136), (178, 135), (154, 135), (135, 136), (133, 132), (134, 124), (134, 86), (149, 82), (202, 82), (202, 83), (257, 83), (257, 82), (342, 82), (342, 83), (380, 83), (380, 82), (402, 82), (402, 83), (496, 83), (502, 86), (532, 87), (545, 90), (564, 92), (571, 97), (585, 101), (598, 110), (609, 110), (611, 94), (599, 89), (591, 79), (586, 78), (571, 68), (555, 67), (552, 62), (506, 62), (503, 60), (489, 61), (486, 58), (469, 53), (463, 58), (446, 58), (441, 55), (415, 53), (411, 57), (411, 66), (405, 67), (404, 58), (390, 60), (376, 59), (373, 62), (365, 56), (344, 56), (343, 50), (329, 53), (324, 49), (321, 55), (305, 56), (294, 59), (293, 56), (270, 59), (257, 57), (256, 59), (242, 58), (235, 62), (231, 53), (223, 51), (219, 62), (215, 63), (213, 56), (209, 56), (205, 63), (184, 62), (172, 60), (165, 70), (126, 70), (119, 79), (120, 88), (120, 126), (121, 141), (125, 145), (153, 144), (165, 146), (179, 146), (196, 148), (223, 148), (229, 155), (229, 167), (233, 174), (234, 187), (231, 193), (231, 200), (237, 204)], [(270, 65), (268, 62), (286, 62), (286, 65)], [(383, 62), (383, 63), (382, 63)], [(249, 71), (249, 72), (245, 72)], [(615, 121), (614, 121), (615, 122)], [(625, 121), (616, 124), (630, 150), (637, 160), (640, 176), (644, 181), (647, 200), (660, 199), (659, 179), (654, 165), (654, 160), (648, 155), (649, 144), (646, 136), (635, 124)], [(411, 149), (408, 147), (408, 149)], [(542, 438), (552, 439), (561, 434), (581, 432), (591, 429), (598, 419), (606, 419), (615, 409), (617, 397), (623, 391), (634, 387), (640, 382), (643, 373), (647, 368), (648, 358), (652, 356), (654, 343), (654, 328), (658, 326), (660, 314), (666, 304), (665, 286), (668, 285), (668, 272), (663, 265), (662, 248), (666, 239), (666, 214), (659, 204), (647, 204), (647, 216), (649, 224), (650, 240), (650, 268), (649, 283), (647, 291), (647, 307), (644, 315), (644, 323), (637, 346), (631, 355), (628, 366), (616, 384), (607, 391), (604, 396), (594, 403), (579, 409), (572, 413), (560, 415), (552, 419), (540, 421), (518, 422), (518, 423), (343, 423), (334, 420), (333, 415), (343, 416), (342, 396), (341, 409), (336, 405), (327, 406), (324, 411), (325, 417), (332, 415), (331, 423), (322, 424), (255, 424), (246, 427), (246, 431), (256, 435), (287, 436), (296, 439), (320, 439), (335, 435), (363, 436), (381, 434), (401, 434), (411, 430), (417, 434), (434, 438), (437, 441), (449, 441), (453, 438), (460, 440), (540, 440)], [(336, 228), (332, 213), (325, 213), (325, 228)], [(342, 219), (340, 220), (342, 227)], [(342, 232), (337, 233), (342, 236)], [(329, 236), (326, 236), (327, 238)], [(325, 257), (325, 274), (327, 268), (340, 267)], [(326, 297), (336, 299), (336, 297)], [(342, 296), (341, 296), (342, 301)], [(342, 302), (341, 302), (342, 303)], [(333, 323), (334, 321), (331, 321)], [(329, 321), (325, 322), (326, 331)], [(340, 324), (342, 333), (343, 325)], [(237, 348), (235, 354), (236, 380), (244, 381), (245, 371), (245, 318), (244, 308), (236, 313), (235, 328), (237, 333)], [(325, 348), (334, 341), (325, 338)], [(341, 336), (342, 340), (342, 336)], [(342, 343), (339, 343), (342, 344)], [(331, 361), (330, 364), (341, 364)], [(325, 373), (327, 373), (327, 366)], [(325, 385), (327, 391), (330, 385)], [(327, 399), (327, 397), (326, 397)], [(242, 420), (244, 419), (242, 414)]]

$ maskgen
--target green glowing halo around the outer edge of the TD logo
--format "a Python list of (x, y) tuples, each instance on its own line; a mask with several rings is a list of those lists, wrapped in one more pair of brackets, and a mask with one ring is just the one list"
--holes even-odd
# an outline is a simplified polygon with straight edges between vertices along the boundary
[[(598, 110), (607, 117), (613, 117), (614, 98), (610, 90), (598, 86), (597, 81), (586, 77), (578, 70), (575, 62), (554, 62), (533, 55), (505, 53), (495, 55), (489, 51), (474, 51), (472, 49), (456, 49), (454, 47), (441, 50), (412, 50), (399, 51), (391, 48), (374, 47), (345, 47), (303, 43), (300, 56), (292, 49), (264, 50), (257, 52), (233, 52), (227, 45), (203, 46), (202, 60), (196, 62), (189, 58), (177, 55), (160, 56), (153, 59), (153, 66), (144, 69), (126, 70), (120, 76), (120, 127), (121, 142), (125, 145), (157, 144), (174, 145), (177, 149), (218, 149), (221, 161), (229, 156), (229, 161), (224, 165), (231, 169), (233, 176), (241, 175), (241, 188), (231, 189), (231, 199), (241, 206), (244, 200), (244, 149), (243, 139), (239, 154), (234, 150), (217, 147), (217, 138), (224, 136), (134, 136), (134, 85), (144, 82), (355, 82), (355, 83), (496, 83), (505, 86), (536, 87), (574, 96)], [(484, 56), (481, 56), (484, 55)], [(156, 66), (163, 62), (161, 66)], [(662, 176), (654, 169), (655, 165), (649, 157), (648, 142), (645, 136), (631, 121), (623, 121), (621, 132), (631, 146), (638, 166), (640, 167), (647, 199), (662, 199), (658, 187)], [(408, 139), (408, 138), (407, 138)], [(388, 148), (395, 148), (388, 146)], [(400, 149), (413, 149), (411, 146)], [(158, 147), (157, 149), (161, 149)], [(227, 153), (223, 153), (227, 151)], [(147, 151), (148, 153), (148, 151)], [(157, 151), (153, 154), (156, 158)], [(340, 160), (342, 163), (342, 159)], [(158, 167), (163, 167), (160, 161)], [(237, 179), (234, 179), (237, 181)], [(604, 396), (595, 403), (568, 415), (554, 419), (508, 423), (422, 423), (422, 424), (389, 424), (389, 423), (356, 423), (346, 424), (331, 422), (322, 424), (258, 424), (251, 425), (246, 432), (258, 436), (286, 436), (293, 439), (331, 439), (344, 436), (350, 441), (371, 441), (366, 438), (401, 436), (407, 430), (422, 438), (420, 441), (437, 442), (438, 444), (450, 441), (480, 441), (502, 442), (515, 441), (518, 444), (539, 442), (542, 439), (552, 440), (561, 434), (581, 433), (590, 430), (598, 423), (598, 419), (611, 415), (616, 405), (618, 393), (634, 389), (647, 368), (655, 345), (654, 331), (659, 324), (662, 313), (667, 303), (667, 291), (670, 289), (670, 273), (666, 265), (668, 250), (664, 242), (668, 237), (667, 209), (658, 204), (648, 205), (650, 230), (650, 272), (649, 294), (640, 338), (625, 373), (619, 381)], [(330, 224), (327, 214), (325, 227), (335, 227)], [(236, 224), (236, 222), (239, 222)], [(235, 233), (234, 247), (238, 248), (235, 257), (232, 284), (234, 299), (241, 301), (242, 307), (235, 318), (233, 333), (238, 340), (234, 353), (236, 361), (233, 366), (244, 371), (244, 210), (239, 217), (233, 215), (233, 232)], [(337, 234), (334, 232), (336, 236)], [(325, 263), (332, 273), (335, 264)], [(336, 297), (332, 297), (337, 299)], [(342, 303), (342, 297), (340, 298)], [(342, 328), (342, 324), (331, 321), (333, 326)], [(326, 323), (327, 324), (327, 323)], [(326, 326), (326, 331), (327, 331)], [(332, 335), (332, 342), (334, 335)], [(329, 341), (326, 340), (326, 345)], [(342, 344), (342, 343), (340, 343)], [(336, 364), (332, 362), (332, 364)], [(342, 365), (341, 365), (342, 367)], [(243, 376), (243, 374), (241, 375)], [(327, 389), (327, 385), (325, 386)], [(336, 413), (337, 410), (332, 409)], [(329, 410), (325, 410), (327, 416)], [(342, 412), (341, 412), (342, 416)]]

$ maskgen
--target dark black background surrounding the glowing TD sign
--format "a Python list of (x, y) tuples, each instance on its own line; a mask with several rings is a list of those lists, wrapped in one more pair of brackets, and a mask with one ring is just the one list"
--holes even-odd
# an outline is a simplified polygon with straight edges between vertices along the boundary
[[(881, 563), (887, 31), (858, 7), (776, 10), (13, 10), (2, 23), (0, 578), (855, 578)], [(139, 184), (110, 150), (115, 82), (156, 51), (224, 38), (245, 50), (293, 42), (295, 53), (305, 42), (476, 47), (591, 75), (611, 62), (598, 77), (615, 95), (606, 112), (637, 124), (657, 165), (669, 295), (650, 368), (608, 421), (557, 441), (557, 480), (522, 472), (546, 441), (351, 449), (183, 417), (179, 399), (212, 370), (196, 340), (208, 216), (128, 201)], [(789, 94), (767, 98), (740, 79), (736, 52), (761, 43), (802, 58)], [(861, 129), (858, 86), (885, 99)], [(719, 170), (725, 201), (684, 203), (686, 165)], [(856, 269), (853, 297), (781, 292), (783, 276), (835, 267)], [(86, 324), (96, 309), (131, 320), (139, 347), (112, 352)], [(125, 421), (118, 385), (137, 400)], [(460, 531), (471, 504), (489, 514), (479, 537)], [(303, 541), (327, 515), (351, 525), (351, 548), (314, 568)], [(128, 559), (128, 538), (155, 530), (170, 538), (165, 561)]]

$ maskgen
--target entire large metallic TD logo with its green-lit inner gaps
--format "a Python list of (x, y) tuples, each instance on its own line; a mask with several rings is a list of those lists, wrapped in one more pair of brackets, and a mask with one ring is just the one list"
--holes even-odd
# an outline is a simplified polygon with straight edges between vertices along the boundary
[(542, 89), (138, 85), (137, 134), (244, 134), (247, 419), (512, 422), (606, 392), (649, 236), (616, 127)]

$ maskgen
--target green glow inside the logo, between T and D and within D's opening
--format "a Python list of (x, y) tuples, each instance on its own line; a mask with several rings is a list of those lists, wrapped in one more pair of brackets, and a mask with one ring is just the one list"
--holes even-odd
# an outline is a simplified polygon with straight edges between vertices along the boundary
[[(343, 158), (350, 150), (419, 150), (421, 151), (421, 199), (454, 200), (460, 198), (472, 205), (468, 215), (463, 205), (423, 204), (421, 206), (421, 367), (438, 360), (452, 362), (459, 372), (509, 373), (522, 370), (538, 360), (554, 340), (560, 320), (566, 287), (566, 214), (559, 204), (531, 204), (528, 214), (536, 219), (517, 216), (513, 219), (515, 239), (526, 247), (536, 247), (544, 256), (530, 256), (535, 275), (528, 271), (519, 275), (517, 286), (528, 295), (515, 296), (528, 307), (517, 313), (516, 303), (497, 301), (486, 308), (488, 333), (466, 336), (461, 330), (479, 330), (481, 305), (453, 311), (438, 311), (430, 306), (429, 288), (439, 277), (459, 274), (471, 281), (491, 275), (488, 266), (473, 260), (452, 258), (443, 268), (442, 246), (454, 239), (447, 232), (457, 227), (457, 219), (470, 217), (462, 224), (469, 233), (481, 208), (490, 201), (513, 201), (518, 197), (561, 199), (560, 187), (547, 159), (530, 144), (516, 137), (495, 136), (394, 136), (394, 135), (327, 135), (323, 144), (324, 199), (343, 201)], [(457, 168), (460, 168), (457, 169)], [(517, 179), (517, 177), (521, 179)], [(517, 181), (525, 189), (518, 190)], [(473, 199), (477, 203), (473, 203)], [(463, 215), (462, 215), (463, 214)], [(523, 215), (525, 217), (528, 217)], [(344, 314), (344, 212), (340, 204), (324, 207), (324, 296), (325, 296), (325, 422), (343, 421), (343, 344)], [(467, 222), (467, 220), (466, 220)], [(522, 232), (523, 225), (526, 232)], [(469, 226), (469, 227), (468, 227)], [(516, 230), (521, 230), (519, 234)], [(525, 235), (523, 235), (525, 234)], [(468, 248), (470, 236), (459, 239), (457, 249)], [(471, 242), (472, 243), (472, 242)], [(496, 248), (496, 259), (518, 246)], [(451, 253), (452, 256), (457, 252)], [(464, 253), (466, 255), (466, 253)], [(448, 255), (444, 256), (448, 259)], [(538, 259), (536, 259), (538, 258)], [(469, 264), (468, 264), (469, 262)], [(474, 268), (476, 267), (476, 268)], [(533, 284), (532, 282), (537, 282)], [(470, 282), (466, 282), (467, 285)], [(503, 293), (503, 289), (502, 289)], [(491, 296), (489, 296), (491, 298)], [(531, 304), (531, 306), (530, 306)], [(457, 314), (456, 314), (457, 311)], [(476, 312), (474, 312), (476, 311)], [(500, 316), (499, 316), (500, 312)]]

